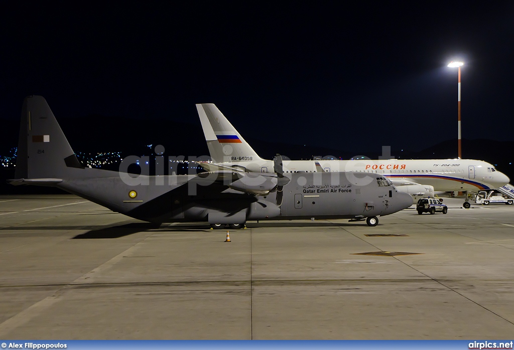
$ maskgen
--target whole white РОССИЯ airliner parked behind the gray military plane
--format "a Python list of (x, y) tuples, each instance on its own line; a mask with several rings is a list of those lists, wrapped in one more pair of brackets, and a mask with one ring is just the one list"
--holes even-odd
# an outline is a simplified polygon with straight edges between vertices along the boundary
[[(213, 162), (201, 163), (201, 166), (207, 170), (273, 171), (273, 161), (259, 157), (214, 104), (197, 104), (196, 109)], [(509, 183), (509, 178), (493, 165), (472, 159), (284, 160), (283, 169), (284, 172), (380, 173), (388, 177), (399, 191), (409, 193), (415, 202), (419, 198), (434, 197), (434, 191), (478, 192)], [(463, 206), (469, 208), (467, 199)]]

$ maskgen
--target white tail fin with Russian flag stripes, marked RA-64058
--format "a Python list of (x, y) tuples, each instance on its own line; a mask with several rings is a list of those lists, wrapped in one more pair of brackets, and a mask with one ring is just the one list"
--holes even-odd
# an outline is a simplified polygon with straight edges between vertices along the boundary
[(196, 109), (213, 162), (262, 160), (214, 104), (197, 104)]

